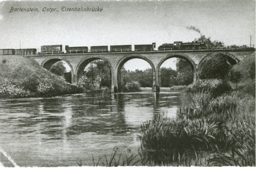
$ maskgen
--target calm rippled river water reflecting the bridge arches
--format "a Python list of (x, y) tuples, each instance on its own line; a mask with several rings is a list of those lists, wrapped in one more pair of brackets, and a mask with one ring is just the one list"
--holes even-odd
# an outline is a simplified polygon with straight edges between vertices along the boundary
[(106, 91), (0, 100), (0, 166), (83, 166), (119, 153), (138, 154), (140, 124), (175, 117), (188, 93)]

